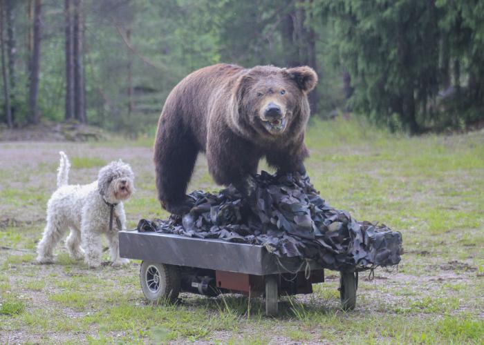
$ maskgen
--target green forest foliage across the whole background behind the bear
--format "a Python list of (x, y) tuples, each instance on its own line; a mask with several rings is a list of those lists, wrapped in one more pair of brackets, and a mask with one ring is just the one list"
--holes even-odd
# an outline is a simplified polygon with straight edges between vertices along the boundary
[[(419, 133), (465, 130), (484, 117), (481, 0), (81, 2), (88, 122), (130, 137), (156, 126), (180, 79), (219, 62), (310, 64), (319, 72), (310, 101), (323, 118), (355, 110), (392, 132)], [(55, 0), (42, 3), (39, 110), (63, 121), (64, 13), (51, 10)], [(29, 111), (28, 1), (15, 10), (11, 93), (21, 126)], [(3, 103), (1, 92), (0, 121)]]

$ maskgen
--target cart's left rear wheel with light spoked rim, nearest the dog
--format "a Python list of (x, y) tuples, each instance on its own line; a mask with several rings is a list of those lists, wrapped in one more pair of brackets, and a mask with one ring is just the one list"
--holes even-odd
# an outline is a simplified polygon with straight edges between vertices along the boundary
[(180, 293), (180, 270), (173, 265), (142, 262), (140, 282), (151, 302), (175, 302)]

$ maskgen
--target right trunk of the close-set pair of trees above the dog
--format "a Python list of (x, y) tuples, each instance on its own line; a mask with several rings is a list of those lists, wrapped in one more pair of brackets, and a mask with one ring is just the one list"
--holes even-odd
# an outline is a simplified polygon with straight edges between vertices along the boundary
[(86, 124), (86, 104), (84, 87), (83, 40), (84, 26), (81, 12), (82, 0), (74, 0), (74, 111), (75, 118)]

